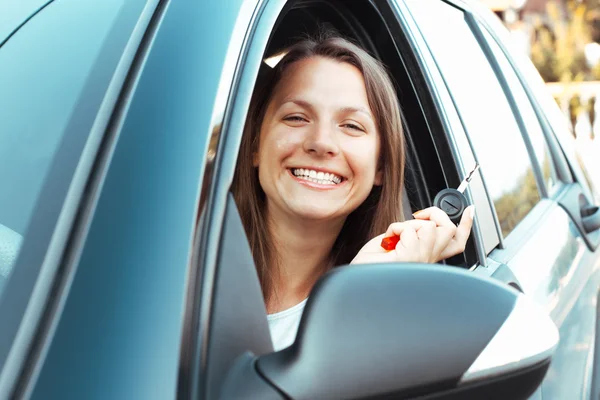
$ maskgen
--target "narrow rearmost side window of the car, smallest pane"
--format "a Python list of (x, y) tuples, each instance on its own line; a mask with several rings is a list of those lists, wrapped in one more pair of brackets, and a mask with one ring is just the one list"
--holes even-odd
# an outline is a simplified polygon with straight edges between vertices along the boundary
[(515, 98), (517, 108), (519, 109), (519, 113), (523, 118), (523, 122), (525, 123), (525, 128), (527, 129), (529, 140), (531, 142), (531, 145), (533, 146), (533, 151), (535, 152), (535, 156), (539, 161), (542, 175), (544, 177), (544, 184), (546, 185), (549, 191), (552, 191), (553, 188), (556, 188), (558, 178), (556, 174), (556, 168), (550, 156), (548, 144), (544, 137), (542, 125), (540, 124), (537, 114), (535, 113), (535, 110), (531, 105), (531, 101), (529, 101), (529, 97), (527, 96), (527, 93), (525, 92), (525, 89), (523, 88), (523, 85), (521, 84), (515, 70), (510, 64), (510, 61), (508, 61), (508, 59), (504, 55), (504, 52), (502, 51), (498, 43), (494, 40), (492, 35), (483, 27), (481, 31), (486, 37), (486, 40), (490, 45), (490, 48), (494, 53), (496, 60), (498, 60), (498, 64), (502, 69), (502, 74), (506, 78), (511, 93)]

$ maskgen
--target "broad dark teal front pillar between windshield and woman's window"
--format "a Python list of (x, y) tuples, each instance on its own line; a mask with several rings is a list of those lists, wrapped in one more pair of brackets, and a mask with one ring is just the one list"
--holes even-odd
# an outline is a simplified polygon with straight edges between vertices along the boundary
[[(240, 8), (162, 7), (34, 398), (169, 398), (178, 391), (199, 191)], [(99, 355), (93, 365), (86, 361)]]

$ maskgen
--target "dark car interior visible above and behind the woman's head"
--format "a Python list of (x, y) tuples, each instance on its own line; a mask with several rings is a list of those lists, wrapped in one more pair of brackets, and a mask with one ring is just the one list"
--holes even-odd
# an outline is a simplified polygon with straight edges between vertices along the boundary
[[(435, 195), (447, 187), (457, 187), (463, 177), (456, 169), (442, 122), (421, 72), (421, 66), (397, 25), (393, 10), (387, 4), (376, 8), (369, 1), (290, 2), (280, 14), (263, 60), (285, 52), (306, 35), (333, 30), (358, 43), (387, 66), (396, 85), (406, 143), (403, 209), (405, 219), (429, 207)], [(360, 18), (359, 18), (360, 16)], [(387, 16), (387, 18), (386, 18)], [(263, 63), (261, 68), (270, 68)], [(442, 168), (442, 165), (446, 166)], [(449, 265), (471, 267), (477, 262), (472, 239), (463, 255), (445, 261)]]

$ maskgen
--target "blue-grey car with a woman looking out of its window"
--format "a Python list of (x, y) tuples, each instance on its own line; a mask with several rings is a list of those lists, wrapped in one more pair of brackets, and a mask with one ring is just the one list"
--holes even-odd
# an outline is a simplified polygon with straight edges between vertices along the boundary
[[(28, 0), (0, 15), (0, 398), (600, 395), (600, 186), (477, 2)], [(260, 68), (322, 27), (394, 78), (408, 208), (478, 164), (476, 218), (442, 265), (335, 268), (273, 352), (230, 186)]]

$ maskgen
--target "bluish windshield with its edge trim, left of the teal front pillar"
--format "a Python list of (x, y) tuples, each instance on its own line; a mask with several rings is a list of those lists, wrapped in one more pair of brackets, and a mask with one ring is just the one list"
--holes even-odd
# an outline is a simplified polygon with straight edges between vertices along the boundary
[(40, 6), (0, 45), (0, 398), (18, 398), (40, 365), (30, 357), (60, 300), (63, 254), (156, 2), (6, 6), (9, 23)]

